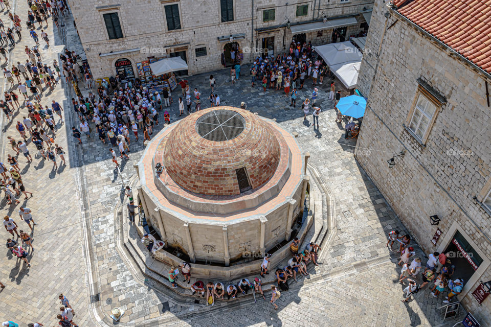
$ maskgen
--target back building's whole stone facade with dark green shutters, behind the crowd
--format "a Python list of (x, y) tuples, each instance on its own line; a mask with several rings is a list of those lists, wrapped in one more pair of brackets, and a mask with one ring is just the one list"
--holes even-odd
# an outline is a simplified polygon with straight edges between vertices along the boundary
[[(221, 54), (225, 50), (229, 56), (231, 46), (238, 45), (248, 63), (263, 53), (286, 51), (294, 36), (314, 45), (344, 41), (368, 29), (373, 1), (69, 0), (69, 4), (97, 79), (115, 76), (115, 65), (121, 62), (130, 64), (137, 75), (137, 63), (149, 57), (180, 56), (192, 75), (223, 68)], [(311, 25), (323, 22), (324, 16), (325, 26)], [(302, 28), (292, 33), (297, 25)]]

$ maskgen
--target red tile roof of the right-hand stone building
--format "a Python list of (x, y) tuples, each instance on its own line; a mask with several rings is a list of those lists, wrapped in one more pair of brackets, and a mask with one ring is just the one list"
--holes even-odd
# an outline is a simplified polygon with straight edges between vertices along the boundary
[(491, 0), (394, 0), (397, 11), (491, 73)]

